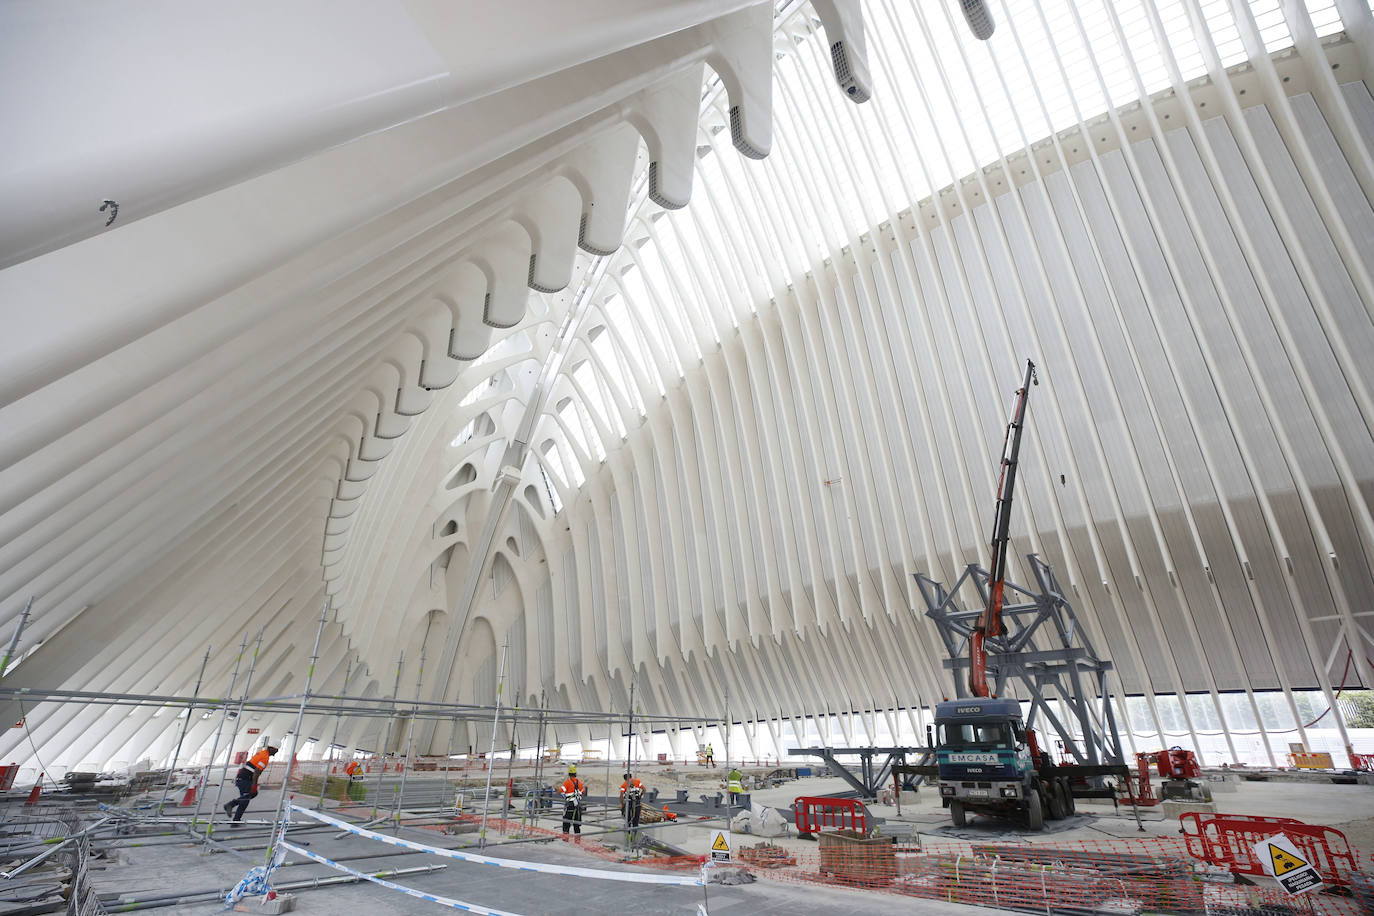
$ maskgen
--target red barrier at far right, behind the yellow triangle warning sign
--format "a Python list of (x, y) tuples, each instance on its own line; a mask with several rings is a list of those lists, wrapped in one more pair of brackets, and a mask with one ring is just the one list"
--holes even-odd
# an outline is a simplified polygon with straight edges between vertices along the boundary
[(1179, 825), (1190, 856), (1226, 868), (1232, 875), (1264, 875), (1264, 867), (1254, 858), (1252, 847), (1274, 834), (1283, 834), (1293, 840), (1329, 884), (1348, 886), (1351, 875), (1363, 871), (1345, 834), (1334, 827), (1304, 824), (1292, 817), (1205, 817), (1197, 812), (1179, 814)]

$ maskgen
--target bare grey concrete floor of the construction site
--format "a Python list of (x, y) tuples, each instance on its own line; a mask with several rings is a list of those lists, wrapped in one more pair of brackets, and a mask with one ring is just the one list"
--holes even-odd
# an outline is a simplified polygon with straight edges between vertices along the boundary
[[(655, 784), (653, 770), (643, 773), (646, 783)], [(710, 780), (719, 775), (698, 775), (698, 779), (684, 777), (677, 773), (672, 777), (676, 786), (698, 788), (712, 784)], [(672, 795), (668, 780), (658, 780), (665, 795)], [(594, 791), (599, 788), (592, 784)], [(842, 791), (844, 783), (838, 779), (802, 779), (787, 783), (779, 788), (761, 790), (753, 792), (753, 801), (760, 805), (789, 808), (798, 795), (820, 795), (826, 792)], [(695, 792), (694, 792), (695, 797)], [(260, 817), (268, 820), (276, 808), (276, 794), (264, 791), (249, 809), (249, 818)], [(312, 799), (313, 801), (313, 799)], [(1367, 786), (1331, 786), (1331, 784), (1298, 784), (1298, 783), (1227, 783), (1216, 792), (1217, 809), (1221, 812), (1275, 814), (1297, 817), (1312, 824), (1329, 824), (1347, 832), (1352, 845), (1366, 850), (1374, 849), (1374, 787)], [(1052, 832), (1028, 835), (1014, 828), (1014, 825), (991, 820), (971, 818), (963, 829), (949, 825), (948, 814), (940, 805), (940, 799), (929, 791), (922, 791), (915, 797), (903, 795), (903, 813), (899, 817), (896, 808), (890, 805), (874, 805), (870, 810), (877, 817), (888, 820), (886, 832), (915, 832), (926, 845), (941, 842), (958, 843), (960, 840), (993, 840), (993, 842), (1063, 842), (1083, 840), (1101, 842), (1107, 836), (1139, 836), (1135, 818), (1129, 809), (1113, 810), (1110, 803), (1081, 803), (1080, 814), (1066, 821), (1052, 824)], [(1165, 818), (1158, 808), (1142, 809), (1142, 820), (1146, 835), (1175, 835), (1179, 829), (1176, 818)], [(705, 853), (710, 838), (723, 820), (692, 820), (686, 816), (676, 825), (665, 828), (665, 836), (675, 845), (691, 853)], [(545, 828), (558, 828), (554, 820), (541, 824)], [(588, 834), (594, 829), (588, 824)], [(459, 836), (445, 836), (444, 834), (420, 829), (403, 828), (403, 835), (408, 835), (420, 842), (460, 847), (471, 846), (475, 836), (471, 834)], [(375, 840), (345, 836), (337, 838), (337, 831), (320, 828), (293, 828), (293, 836), (298, 834), (297, 842), (309, 843), (309, 849), (330, 858), (346, 858), (357, 856), (374, 856), (374, 858), (359, 858), (349, 864), (363, 871), (378, 871), (383, 868), (407, 868), (423, 864), (445, 864), (441, 871), (431, 873), (416, 873), (394, 878), (397, 883), (415, 887), (418, 890), (445, 897), (453, 897), (470, 904), (478, 904), (513, 913), (695, 913), (703, 902), (701, 887), (658, 887), (647, 884), (629, 884), (622, 882), (570, 878), (558, 875), (541, 875), (530, 872), (513, 872), (486, 865), (438, 860), (423, 854), (375, 857), (385, 853), (394, 853), (389, 846)], [(124, 897), (143, 898), (155, 894), (191, 893), (198, 890), (217, 890), (232, 886), (253, 865), (261, 864), (262, 850), (267, 842), (265, 827), (245, 825), (231, 829), (220, 827), (216, 836), (225, 845), (238, 847), (236, 851), (206, 853), (202, 846), (184, 842), (154, 845), (158, 840), (142, 840), (144, 845), (128, 846), (117, 850), (118, 861), (110, 867), (95, 872), (96, 886), (102, 893), (120, 893)], [(589, 868), (622, 869), (631, 865), (609, 862), (603, 857), (592, 856), (561, 840), (502, 845), (504, 839), (492, 829), (488, 834), (489, 843), (486, 853), (503, 858), (522, 858), (539, 862), (569, 864)], [(614, 843), (614, 835), (606, 836)], [(736, 836), (736, 847), (742, 843), (760, 842), (754, 838)], [(815, 853), (816, 845), (796, 836), (771, 840), (778, 845), (797, 849), (798, 851)], [(291, 857), (289, 861), (294, 860)], [(309, 878), (331, 876), (326, 867), (306, 862), (301, 865), (287, 865), (278, 872), (275, 882), (284, 883)], [(401, 895), (396, 891), (374, 884), (344, 884), (323, 887), (298, 893), (297, 912), (326, 913), (423, 913), (442, 912), (441, 908)], [(857, 890), (831, 889), (809, 884), (790, 884), (769, 880), (767, 876), (753, 884), (723, 887), (710, 886), (705, 901), (709, 912), (720, 913), (911, 913), (919, 909), (922, 913), (963, 913), (966, 916), (987, 915), (987, 908), (966, 908), (940, 901), (903, 898), (883, 893), (870, 893)], [(111, 908), (114, 909), (114, 908)], [(170, 908), (161, 908), (161, 913), (170, 915), (207, 915), (223, 912), (218, 904), (185, 904)]]

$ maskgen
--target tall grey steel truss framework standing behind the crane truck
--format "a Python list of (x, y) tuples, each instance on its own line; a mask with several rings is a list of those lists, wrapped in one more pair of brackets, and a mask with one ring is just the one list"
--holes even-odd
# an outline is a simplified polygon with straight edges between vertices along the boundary
[[(1006, 584), (1009, 597), (1015, 595), (1025, 600), (1004, 604), (1002, 615), (1006, 632), (988, 634), (992, 694), (1029, 699), (1026, 728), (1035, 728), (1037, 717), (1044, 715), (1063, 742), (1065, 753), (1077, 764), (1123, 764), (1125, 757), (1107, 687), (1112, 662), (1101, 658), (1088, 641), (1054, 570), (1035, 553), (1026, 556), (1026, 564), (1040, 591)], [(987, 607), (988, 578), (988, 570), (970, 563), (947, 591), (927, 575), (916, 574), (916, 585), (926, 600), (926, 617), (934, 621), (948, 654), (944, 666), (954, 673), (956, 698), (969, 695), (969, 639), (973, 625)], [(959, 592), (969, 586), (978, 593), (977, 610), (965, 610), (958, 603)], [(1058, 700), (1059, 709), (1073, 717), (1077, 735), (1055, 713), (1051, 700)]]

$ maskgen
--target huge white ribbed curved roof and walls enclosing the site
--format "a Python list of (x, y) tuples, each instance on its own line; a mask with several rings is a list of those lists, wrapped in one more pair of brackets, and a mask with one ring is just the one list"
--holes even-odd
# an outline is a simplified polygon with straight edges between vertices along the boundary
[(919, 733), (1026, 357), (1013, 548), (1135, 731), (1374, 684), (1367, 4), (511, 7), (0, 10), (0, 758), (165, 759), (58, 692), (258, 644), (262, 698), (508, 647), (522, 705)]

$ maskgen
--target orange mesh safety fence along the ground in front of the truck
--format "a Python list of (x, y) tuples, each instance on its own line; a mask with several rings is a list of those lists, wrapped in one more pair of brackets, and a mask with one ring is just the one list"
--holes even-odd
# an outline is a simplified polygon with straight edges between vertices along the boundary
[[(820, 834), (816, 851), (741, 845), (756, 876), (793, 883), (867, 889), (888, 894), (1065, 913), (1289, 912), (1286, 893), (1242, 887), (1219, 868), (1194, 860), (1182, 839), (1103, 842), (932, 843), (900, 846), (892, 838), (860, 840)], [(738, 838), (736, 838), (738, 839)], [(829, 842), (827, 842), (829, 839)], [(772, 856), (763, 853), (772, 850)], [(757, 862), (750, 867), (750, 864)], [(1342, 893), (1308, 894), (1318, 916), (1356, 916), (1362, 904)], [(1274, 909), (1267, 909), (1274, 908)]]

